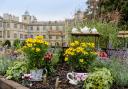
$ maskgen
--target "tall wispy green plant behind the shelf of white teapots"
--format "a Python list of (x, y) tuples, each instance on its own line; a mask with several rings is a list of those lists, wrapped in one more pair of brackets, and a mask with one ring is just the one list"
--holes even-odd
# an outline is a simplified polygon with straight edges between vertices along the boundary
[[(98, 32), (100, 33), (99, 37), (99, 44), (101, 48), (106, 48), (107, 44), (112, 43), (113, 47), (118, 46), (118, 26), (116, 24), (107, 23), (107, 22), (101, 22), (97, 20), (83, 20), (81, 23), (77, 23), (76, 27), (78, 29), (83, 28), (84, 26), (87, 26), (89, 28), (96, 28)], [(80, 37), (81, 39), (82, 37)], [(85, 40), (92, 40), (92, 37), (89, 37), (88, 39), (84, 37)], [(94, 39), (94, 37), (93, 37)], [(93, 41), (94, 42), (94, 41)]]

